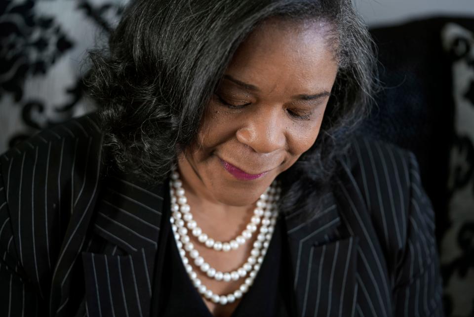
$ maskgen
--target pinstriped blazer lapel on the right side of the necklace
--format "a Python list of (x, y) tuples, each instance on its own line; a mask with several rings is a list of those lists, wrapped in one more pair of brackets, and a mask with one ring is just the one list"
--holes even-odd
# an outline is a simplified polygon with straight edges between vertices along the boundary
[(341, 238), (341, 218), (332, 193), (309, 221), (285, 217), (297, 316), (354, 316), (357, 238)]

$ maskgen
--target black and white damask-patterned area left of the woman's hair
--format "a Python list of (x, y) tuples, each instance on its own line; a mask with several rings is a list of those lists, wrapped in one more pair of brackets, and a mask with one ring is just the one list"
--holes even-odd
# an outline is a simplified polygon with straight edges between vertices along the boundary
[(125, 2), (0, 1), (0, 153), (39, 129), (94, 109), (87, 49), (103, 45)]

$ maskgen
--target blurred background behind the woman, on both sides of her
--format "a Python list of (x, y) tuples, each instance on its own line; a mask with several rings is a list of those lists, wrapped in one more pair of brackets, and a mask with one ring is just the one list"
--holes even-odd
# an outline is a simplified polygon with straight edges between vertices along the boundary
[[(0, 153), (94, 110), (82, 79), (127, 0), (0, 0)], [(436, 213), (446, 316), (474, 316), (474, 0), (354, 0), (383, 89), (360, 133), (411, 150)]]

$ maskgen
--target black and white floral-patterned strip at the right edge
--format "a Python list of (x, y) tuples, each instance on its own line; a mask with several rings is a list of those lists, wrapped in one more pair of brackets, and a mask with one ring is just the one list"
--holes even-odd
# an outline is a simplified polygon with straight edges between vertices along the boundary
[(474, 316), (474, 33), (450, 23), (442, 30), (452, 57), (455, 139), (448, 190), (450, 226), (441, 241), (445, 306)]

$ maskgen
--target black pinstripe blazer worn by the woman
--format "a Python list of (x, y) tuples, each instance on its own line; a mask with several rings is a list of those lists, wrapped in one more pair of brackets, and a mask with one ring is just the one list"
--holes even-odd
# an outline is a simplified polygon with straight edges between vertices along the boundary
[[(169, 198), (104, 176), (95, 120), (0, 158), (0, 316), (157, 316)], [(314, 218), (284, 218), (297, 315), (442, 316), (434, 214), (414, 156), (362, 138), (340, 164)]]

